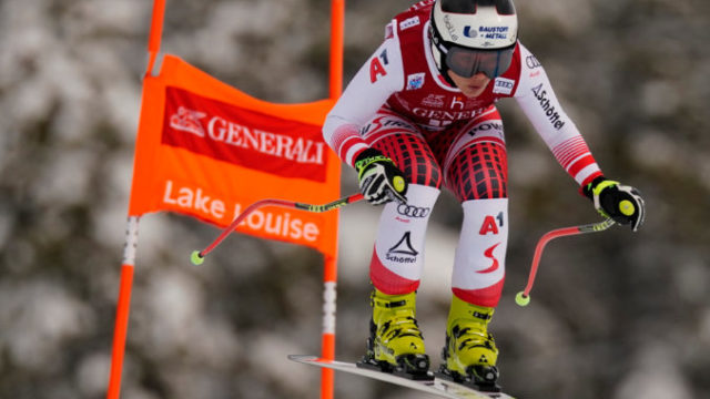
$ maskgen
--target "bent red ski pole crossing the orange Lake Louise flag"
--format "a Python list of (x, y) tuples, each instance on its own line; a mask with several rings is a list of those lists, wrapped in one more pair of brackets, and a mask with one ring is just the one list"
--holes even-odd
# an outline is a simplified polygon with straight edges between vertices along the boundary
[(268, 206), (268, 205), (283, 206), (283, 207), (288, 207), (294, 209), (308, 211), (313, 213), (323, 213), (323, 212), (333, 211), (335, 208), (345, 206), (347, 204), (356, 203), (363, 198), (364, 198), (363, 194), (356, 193), (356, 194), (352, 194), (346, 197), (343, 197), (323, 205), (312, 205), (312, 204), (304, 204), (304, 203), (286, 201), (286, 200), (276, 200), (276, 198), (266, 198), (266, 200), (257, 201), (252, 205), (247, 206), (244, 209), (244, 212), (239, 214), (239, 216), (236, 216), (234, 221), (232, 221), (232, 224), (230, 224), (226, 228), (224, 228), (220, 234), (220, 236), (217, 236), (212, 242), (212, 244), (210, 244), (207, 247), (205, 247), (202, 250), (196, 250), (196, 249), (193, 250), (192, 255), (190, 256), (190, 260), (192, 262), (193, 265), (202, 265), (202, 263), (204, 262), (204, 257), (209, 253), (211, 253), (214, 248), (216, 248), (216, 246), (220, 245), (220, 243), (222, 243), (222, 241), (224, 241), (224, 238), (226, 238), (226, 236), (230, 235), (230, 233), (232, 233), (246, 216), (248, 216), (252, 212), (256, 211), (256, 208), (260, 208), (262, 206)]

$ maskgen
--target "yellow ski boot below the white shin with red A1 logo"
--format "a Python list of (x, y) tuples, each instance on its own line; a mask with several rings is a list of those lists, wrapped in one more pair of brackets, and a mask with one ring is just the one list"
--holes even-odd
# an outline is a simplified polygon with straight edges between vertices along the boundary
[(481, 391), (500, 391), (496, 385), (498, 348), (488, 332), (493, 314), (494, 308), (471, 305), (454, 296), (438, 377)]

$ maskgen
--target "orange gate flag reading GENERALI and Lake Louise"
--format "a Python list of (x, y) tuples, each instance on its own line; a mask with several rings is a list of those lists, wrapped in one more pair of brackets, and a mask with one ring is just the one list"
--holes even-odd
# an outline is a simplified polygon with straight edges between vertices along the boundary
[[(144, 79), (129, 214), (170, 211), (224, 227), (264, 198), (336, 200), (341, 161), (321, 133), (332, 105), (261, 101), (165, 55)], [(336, 255), (336, 212), (264, 207), (237, 231)]]

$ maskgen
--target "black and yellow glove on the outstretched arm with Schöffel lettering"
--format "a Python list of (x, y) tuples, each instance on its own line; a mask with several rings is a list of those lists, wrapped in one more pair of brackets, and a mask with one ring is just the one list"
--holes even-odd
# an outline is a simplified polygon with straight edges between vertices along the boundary
[(597, 212), (602, 216), (611, 217), (619, 224), (629, 224), (633, 232), (643, 224), (646, 209), (638, 190), (599, 176), (581, 191), (594, 201)]

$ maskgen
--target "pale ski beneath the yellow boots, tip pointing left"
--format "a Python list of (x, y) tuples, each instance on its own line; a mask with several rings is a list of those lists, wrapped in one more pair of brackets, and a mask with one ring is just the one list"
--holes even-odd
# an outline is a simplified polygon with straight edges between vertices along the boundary
[(515, 399), (511, 396), (503, 392), (478, 391), (474, 388), (436, 377), (430, 371), (430, 379), (410, 379), (406, 377), (399, 377), (389, 372), (361, 368), (353, 362), (327, 360), (312, 355), (288, 355), (288, 359), (304, 365), (325, 367), (337, 371), (344, 371), (352, 375), (373, 378), (379, 381), (416, 389), (423, 392), (449, 399)]

